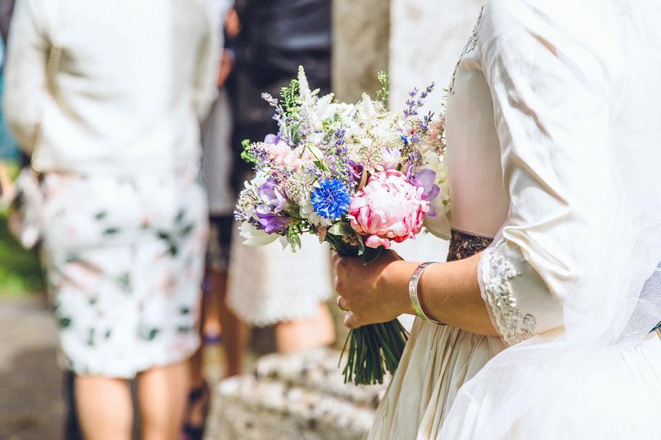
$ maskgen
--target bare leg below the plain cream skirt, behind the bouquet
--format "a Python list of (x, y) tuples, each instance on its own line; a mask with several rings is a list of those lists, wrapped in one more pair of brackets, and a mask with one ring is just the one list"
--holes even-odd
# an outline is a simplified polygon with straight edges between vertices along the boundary
[(275, 347), (280, 353), (323, 347), (335, 342), (335, 326), (326, 303), (319, 303), (315, 316), (275, 325)]

